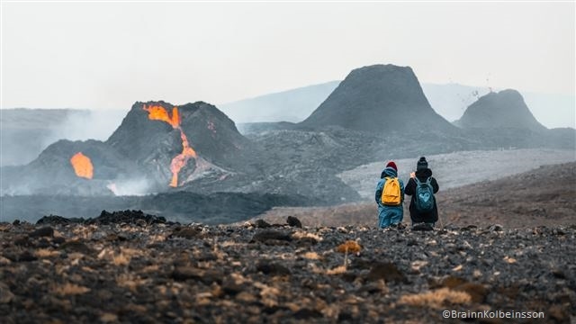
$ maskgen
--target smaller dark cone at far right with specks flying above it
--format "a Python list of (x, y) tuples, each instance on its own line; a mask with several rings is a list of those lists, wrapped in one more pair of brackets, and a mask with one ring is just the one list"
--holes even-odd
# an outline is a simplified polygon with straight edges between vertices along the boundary
[(483, 95), (466, 109), (455, 125), (464, 129), (546, 130), (536, 121), (522, 94), (513, 89)]

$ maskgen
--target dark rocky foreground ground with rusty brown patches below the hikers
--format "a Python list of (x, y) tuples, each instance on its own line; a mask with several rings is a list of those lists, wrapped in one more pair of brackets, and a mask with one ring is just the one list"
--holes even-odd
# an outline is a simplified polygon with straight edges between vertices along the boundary
[(570, 323), (576, 316), (576, 226), (417, 232), (286, 221), (181, 225), (124, 211), (90, 223), (0, 223), (0, 318), (436, 323), (448, 310), (545, 317), (471, 322)]

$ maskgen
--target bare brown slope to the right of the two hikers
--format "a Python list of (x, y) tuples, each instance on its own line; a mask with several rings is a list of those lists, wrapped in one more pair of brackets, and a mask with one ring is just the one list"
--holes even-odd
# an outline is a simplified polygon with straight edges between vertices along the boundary
[(520, 175), (440, 193), (445, 222), (507, 228), (572, 225), (576, 162), (540, 166)]

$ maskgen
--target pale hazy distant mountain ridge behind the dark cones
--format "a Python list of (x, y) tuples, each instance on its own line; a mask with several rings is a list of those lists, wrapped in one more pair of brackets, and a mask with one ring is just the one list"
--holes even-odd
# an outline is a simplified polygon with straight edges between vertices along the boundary
[[(300, 122), (309, 117), (311, 112), (338, 87), (339, 83), (340, 81), (331, 81), (320, 85), (308, 85), (218, 106), (237, 123)], [(470, 104), (482, 95), (491, 92), (488, 86), (456, 83), (422, 83), (421, 87), (432, 108), (447, 121), (460, 119)], [(499, 89), (492, 89), (492, 91), (499, 91)], [(574, 95), (540, 94), (521, 90), (519, 92), (536, 119), (547, 128), (576, 128), (576, 112), (573, 108), (576, 105), (576, 97)], [(308, 96), (308, 94), (311, 95)], [(292, 102), (298, 102), (300, 106), (294, 107)], [(555, 113), (550, 113), (551, 110)]]

